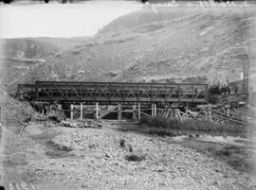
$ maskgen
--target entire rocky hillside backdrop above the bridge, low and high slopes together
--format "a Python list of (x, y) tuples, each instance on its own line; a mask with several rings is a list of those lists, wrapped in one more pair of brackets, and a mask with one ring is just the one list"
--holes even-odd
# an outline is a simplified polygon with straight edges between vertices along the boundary
[[(9, 40), (4, 60), (11, 75), (5, 85), (12, 91), (14, 84), (36, 79), (208, 83), (239, 79), (249, 61), (249, 46), (255, 43), (250, 39), (253, 11), (182, 10), (157, 9), (156, 14), (142, 9), (79, 43), (69, 40), (58, 46), (55, 39), (44, 43), (33, 39), (46, 47), (36, 46), (36, 53), (34, 46), (27, 52), (29, 43), (15, 46), (23, 39)], [(31, 62), (37, 66), (27, 69)], [(19, 75), (13, 76), (12, 70)]]

